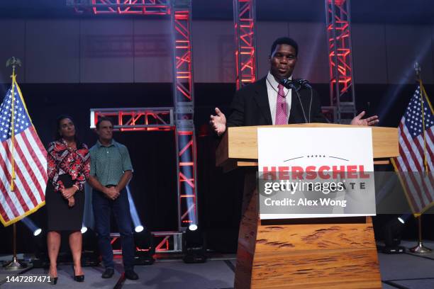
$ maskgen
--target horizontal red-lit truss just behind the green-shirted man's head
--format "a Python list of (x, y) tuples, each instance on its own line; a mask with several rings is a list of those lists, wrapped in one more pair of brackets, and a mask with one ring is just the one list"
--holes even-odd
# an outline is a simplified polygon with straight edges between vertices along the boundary
[(91, 108), (90, 127), (101, 117), (110, 118), (114, 130), (121, 132), (175, 129), (174, 108)]

